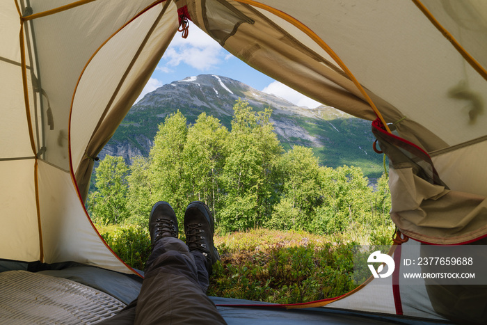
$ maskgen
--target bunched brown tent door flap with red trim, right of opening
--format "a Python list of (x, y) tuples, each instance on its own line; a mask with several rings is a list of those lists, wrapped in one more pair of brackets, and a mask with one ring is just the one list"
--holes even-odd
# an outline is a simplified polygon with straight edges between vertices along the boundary
[(461, 244), (486, 234), (485, 196), (472, 188), (450, 189), (426, 152), (387, 134), (380, 122), (373, 125), (381, 150), (390, 157), (391, 217), (401, 232), (433, 244)]

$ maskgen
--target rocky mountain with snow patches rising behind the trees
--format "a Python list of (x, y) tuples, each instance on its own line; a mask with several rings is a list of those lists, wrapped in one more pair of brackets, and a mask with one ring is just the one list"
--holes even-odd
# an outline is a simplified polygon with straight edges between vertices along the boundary
[(286, 150), (293, 145), (305, 145), (312, 148), (322, 165), (359, 166), (369, 177), (381, 175), (383, 157), (372, 150), (374, 136), (369, 121), (330, 106), (316, 109), (296, 106), (240, 81), (211, 74), (173, 81), (145, 95), (132, 106), (99, 157), (122, 156), (127, 163), (136, 155), (147, 157), (158, 125), (178, 109), (189, 123), (194, 123), (204, 111), (230, 129), (233, 106), (239, 98), (255, 111), (273, 109), (271, 120)]

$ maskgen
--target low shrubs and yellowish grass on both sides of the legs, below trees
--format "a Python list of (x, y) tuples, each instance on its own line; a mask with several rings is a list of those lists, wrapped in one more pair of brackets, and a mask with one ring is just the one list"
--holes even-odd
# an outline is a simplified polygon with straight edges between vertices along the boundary
[[(99, 232), (122, 260), (135, 269), (145, 269), (150, 254), (147, 229), (112, 225), (99, 227)], [(370, 237), (376, 241), (373, 244), (382, 244), (390, 233), (383, 227)], [(353, 246), (359, 244), (353, 241), (356, 237), (267, 229), (216, 235), (221, 262), (213, 267), (207, 294), (270, 303), (340, 296), (358, 286), (352, 279)], [(365, 241), (363, 236), (360, 240)]]

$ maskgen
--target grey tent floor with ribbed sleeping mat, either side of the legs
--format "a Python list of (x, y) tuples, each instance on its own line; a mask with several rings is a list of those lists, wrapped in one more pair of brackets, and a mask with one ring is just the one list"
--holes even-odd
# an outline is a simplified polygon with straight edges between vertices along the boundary
[[(93, 321), (97, 322), (96, 319), (110, 317), (109, 315), (113, 315), (113, 312), (122, 308), (124, 304), (134, 300), (141, 287), (140, 278), (131, 278), (96, 267), (77, 264), (74, 267), (63, 268), (61, 265), (46, 267), (44, 264), (43, 268), (42, 271), (28, 272), (27, 269), (31, 269), (31, 267), (24, 262), (0, 260), (1, 324), (4, 324), (3, 321), (6, 319), (12, 320), (12, 315), (42, 319), (42, 317), (53, 317), (53, 312), (58, 312), (58, 317), (64, 317), (63, 321), (58, 324), (93, 324)], [(12, 271), (12, 269), (16, 269), (16, 271)], [(272, 307), (271, 303), (221, 297), (210, 298), (229, 325), (247, 325), (249, 323), (253, 325), (449, 324), (431, 319), (326, 307), (286, 310)], [(72, 312), (79, 308), (80, 301), (85, 304), (84, 311)], [(94, 303), (102, 308), (95, 308)], [(20, 311), (16, 314), (18, 310)], [(70, 319), (70, 315), (72, 319)], [(9, 321), (8, 324), (27, 324), (22, 319), (26, 318), (14, 319), (15, 322)], [(52, 322), (31, 322), (33, 319), (29, 319), (29, 324), (53, 324)], [(43, 319), (46, 320), (46, 318)], [(90, 322), (84, 322), (82, 319), (90, 319)]]

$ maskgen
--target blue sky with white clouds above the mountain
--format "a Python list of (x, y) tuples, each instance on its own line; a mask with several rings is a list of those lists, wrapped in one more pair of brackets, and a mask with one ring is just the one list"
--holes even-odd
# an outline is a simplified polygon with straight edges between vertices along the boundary
[(314, 108), (320, 104), (254, 68), (250, 68), (191, 22), (188, 38), (182, 38), (181, 33), (175, 35), (137, 102), (145, 94), (165, 84), (198, 74), (217, 74), (229, 77), (257, 90), (262, 90), (264, 93), (280, 96), (298, 106)]

